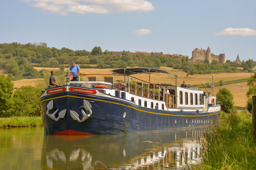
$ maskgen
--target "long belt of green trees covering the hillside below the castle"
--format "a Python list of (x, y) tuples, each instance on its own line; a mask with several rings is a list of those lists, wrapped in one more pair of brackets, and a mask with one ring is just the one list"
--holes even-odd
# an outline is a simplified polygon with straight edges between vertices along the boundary
[(256, 62), (252, 59), (243, 61), (241, 67), (239, 64), (227, 60), (226, 63), (219, 63), (213, 60), (212, 63), (205, 59), (201, 62), (188, 62), (188, 56), (179, 55), (179, 57), (135, 55), (130, 56), (129, 52), (123, 51), (122, 55), (111, 55), (108, 50), (102, 52), (101, 47), (94, 47), (91, 52), (86, 50), (72, 50), (68, 48), (57, 49), (47, 47), (47, 43), (28, 43), (20, 44), (13, 42), (11, 44), (0, 44), (0, 69), (4, 68), (12, 80), (22, 78), (42, 77), (33, 68), (31, 63), (37, 63), (36, 66), (60, 67), (61, 70), (71, 61), (75, 61), (81, 68), (123, 68), (123, 67), (153, 67), (161, 66), (173, 67), (174, 69), (183, 69), (187, 75), (207, 74), (207, 73), (234, 73), (242, 71), (252, 71)]

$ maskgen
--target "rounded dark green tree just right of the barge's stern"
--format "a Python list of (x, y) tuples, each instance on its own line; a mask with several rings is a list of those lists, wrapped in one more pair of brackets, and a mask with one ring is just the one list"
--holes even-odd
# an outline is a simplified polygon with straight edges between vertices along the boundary
[(234, 107), (234, 97), (230, 90), (226, 88), (220, 88), (219, 92), (216, 94), (216, 101), (220, 101), (221, 110), (226, 113), (235, 113), (236, 108)]

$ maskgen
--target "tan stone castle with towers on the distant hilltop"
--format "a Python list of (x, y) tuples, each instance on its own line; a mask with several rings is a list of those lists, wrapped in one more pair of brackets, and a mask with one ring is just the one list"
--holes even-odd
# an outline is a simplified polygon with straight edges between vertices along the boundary
[(192, 57), (191, 59), (189, 59), (189, 61), (198, 62), (205, 59), (208, 59), (210, 62), (212, 62), (213, 59), (216, 59), (219, 63), (225, 63), (225, 54), (220, 54), (219, 56), (216, 56), (211, 53), (209, 46), (207, 50), (202, 48), (200, 50), (196, 48), (192, 51)]

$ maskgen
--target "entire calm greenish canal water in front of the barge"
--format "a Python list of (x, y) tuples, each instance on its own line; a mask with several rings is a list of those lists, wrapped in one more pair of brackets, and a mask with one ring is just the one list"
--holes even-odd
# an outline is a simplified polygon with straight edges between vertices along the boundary
[(201, 162), (207, 128), (130, 135), (44, 135), (43, 128), (0, 129), (0, 170), (162, 170)]

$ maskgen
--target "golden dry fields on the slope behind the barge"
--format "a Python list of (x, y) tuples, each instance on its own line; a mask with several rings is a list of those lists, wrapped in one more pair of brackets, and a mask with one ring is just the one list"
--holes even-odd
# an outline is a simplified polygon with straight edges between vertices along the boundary
[[(45, 67), (34, 67), (37, 70), (47, 69), (51, 70), (58, 70), (58, 68), (45, 68)], [(165, 69), (169, 73), (177, 74), (177, 85), (182, 84), (183, 80), (186, 84), (206, 84), (207, 81), (212, 82), (212, 74), (196, 74), (196, 75), (189, 75), (186, 76), (187, 73), (184, 73), (182, 70), (177, 70), (169, 67), (161, 67), (161, 69)], [(110, 71), (112, 69), (81, 69), (81, 74), (112, 74)], [(214, 75), (214, 82), (219, 82), (220, 80), (229, 81), (229, 80), (239, 80), (243, 78), (249, 78), (254, 73), (219, 73)], [(148, 74), (137, 74), (133, 75), (138, 79), (142, 79), (148, 81)], [(50, 77), (50, 75), (49, 75)], [(175, 76), (169, 74), (162, 74), (162, 73), (152, 73), (150, 75), (151, 83), (171, 83), (175, 84)], [(101, 80), (101, 77), (98, 78)], [(103, 80), (103, 78), (102, 78)], [(57, 80), (58, 81), (58, 80)], [(85, 79), (87, 81), (87, 78)], [(26, 85), (36, 86), (36, 83), (43, 82), (43, 79), (23, 79), (14, 81), (14, 87), (22, 87)], [(220, 88), (227, 88), (231, 91), (234, 96), (234, 105), (245, 107), (247, 97), (246, 92), (249, 89), (246, 82), (243, 83), (234, 83), (228, 84), (221, 87), (215, 87), (214, 92), (215, 95), (219, 91)], [(212, 91), (211, 88), (204, 88), (206, 92)]]

